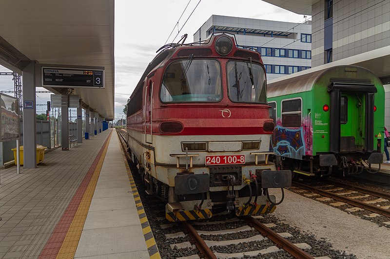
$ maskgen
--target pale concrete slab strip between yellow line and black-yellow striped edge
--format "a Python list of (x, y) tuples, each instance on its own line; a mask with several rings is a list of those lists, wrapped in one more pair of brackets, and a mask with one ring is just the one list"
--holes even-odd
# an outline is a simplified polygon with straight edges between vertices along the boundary
[(149, 258), (116, 135), (110, 140), (75, 258)]

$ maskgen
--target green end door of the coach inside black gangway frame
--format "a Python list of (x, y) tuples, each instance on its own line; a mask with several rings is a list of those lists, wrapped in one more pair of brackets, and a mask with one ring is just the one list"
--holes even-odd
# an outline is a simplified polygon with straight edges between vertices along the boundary
[(340, 97), (340, 152), (362, 151), (363, 105), (362, 93), (341, 93)]

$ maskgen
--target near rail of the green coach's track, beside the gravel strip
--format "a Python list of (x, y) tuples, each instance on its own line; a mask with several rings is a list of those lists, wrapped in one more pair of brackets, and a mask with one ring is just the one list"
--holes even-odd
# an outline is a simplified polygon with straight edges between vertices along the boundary
[(337, 201), (348, 203), (348, 204), (353, 205), (355, 207), (364, 208), (364, 209), (370, 210), (371, 212), (378, 213), (378, 214), (381, 214), (381, 215), (386, 216), (386, 217), (390, 217), (390, 210), (389, 209), (376, 207), (376, 206), (364, 203), (362, 201), (353, 200), (353, 199), (344, 197), (342, 195), (338, 195), (338, 194), (335, 194), (335, 193), (332, 193), (332, 192), (326, 191), (326, 190), (321, 190), (321, 189), (318, 189), (318, 188), (315, 188), (315, 187), (312, 187), (312, 186), (309, 186), (306, 184), (293, 182), (292, 185), (297, 186), (297, 187), (302, 188), (302, 189), (317, 192), (321, 195), (327, 196), (327, 197), (332, 198), (332, 199), (337, 200)]

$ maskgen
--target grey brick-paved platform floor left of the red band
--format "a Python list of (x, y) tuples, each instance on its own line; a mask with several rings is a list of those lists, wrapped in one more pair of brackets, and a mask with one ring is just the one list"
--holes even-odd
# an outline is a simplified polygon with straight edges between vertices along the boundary
[(1, 170), (0, 258), (39, 257), (110, 132), (49, 152), (38, 168)]

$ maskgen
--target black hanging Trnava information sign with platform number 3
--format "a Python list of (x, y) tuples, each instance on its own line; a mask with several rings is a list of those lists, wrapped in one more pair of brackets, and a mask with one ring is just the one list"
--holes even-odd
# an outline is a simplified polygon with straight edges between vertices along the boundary
[(42, 86), (104, 88), (103, 69), (41, 68)]

